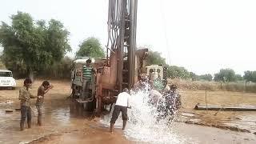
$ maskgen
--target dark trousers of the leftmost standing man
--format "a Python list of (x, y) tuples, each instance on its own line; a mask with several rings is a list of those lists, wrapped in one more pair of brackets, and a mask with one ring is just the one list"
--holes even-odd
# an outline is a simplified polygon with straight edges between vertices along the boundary
[(20, 126), (21, 126), (21, 130), (24, 129), (24, 122), (26, 121), (27, 118), (27, 125), (30, 128), (31, 127), (31, 107), (30, 106), (21, 106), (21, 114), (22, 114), (22, 118), (21, 118), (21, 122), (20, 122)]

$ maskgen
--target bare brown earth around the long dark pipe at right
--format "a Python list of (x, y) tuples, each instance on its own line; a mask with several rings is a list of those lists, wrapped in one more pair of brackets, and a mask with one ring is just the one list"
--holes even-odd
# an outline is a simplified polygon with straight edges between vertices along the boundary
[(206, 105), (206, 99), (207, 105), (256, 107), (256, 94), (203, 90), (183, 90), (180, 93), (182, 94), (181, 111), (195, 114), (194, 118), (190, 118), (190, 122), (206, 126), (229, 128), (230, 130), (256, 131), (255, 111), (206, 111), (193, 109), (198, 103)]

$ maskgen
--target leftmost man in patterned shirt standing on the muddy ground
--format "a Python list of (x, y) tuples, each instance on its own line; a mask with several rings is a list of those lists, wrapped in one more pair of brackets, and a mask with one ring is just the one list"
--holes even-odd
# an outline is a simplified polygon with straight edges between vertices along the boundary
[(27, 118), (27, 125), (29, 128), (31, 128), (31, 107), (30, 107), (30, 98), (37, 98), (36, 96), (33, 96), (30, 94), (30, 87), (32, 86), (32, 81), (30, 78), (26, 78), (24, 80), (24, 86), (21, 90), (19, 90), (18, 99), (21, 101), (21, 122), (20, 122), (20, 128), (21, 130), (24, 130), (24, 122)]

